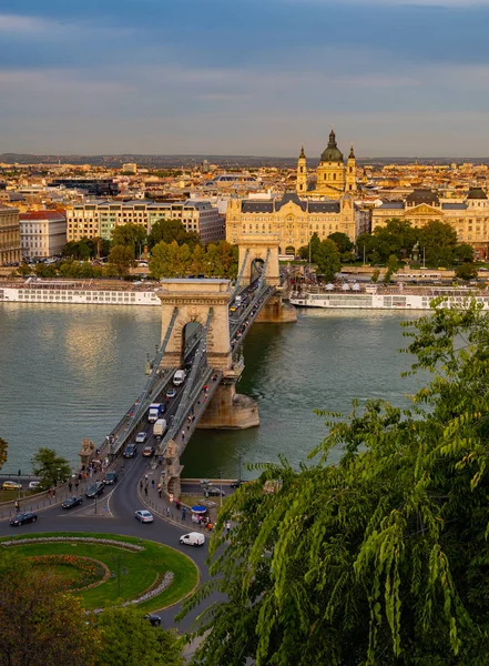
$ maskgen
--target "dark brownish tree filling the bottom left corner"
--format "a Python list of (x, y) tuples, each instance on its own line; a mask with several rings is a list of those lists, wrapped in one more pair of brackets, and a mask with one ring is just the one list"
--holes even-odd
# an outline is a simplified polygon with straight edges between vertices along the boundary
[(80, 601), (60, 592), (60, 581), (0, 555), (0, 666), (90, 666), (98, 634)]

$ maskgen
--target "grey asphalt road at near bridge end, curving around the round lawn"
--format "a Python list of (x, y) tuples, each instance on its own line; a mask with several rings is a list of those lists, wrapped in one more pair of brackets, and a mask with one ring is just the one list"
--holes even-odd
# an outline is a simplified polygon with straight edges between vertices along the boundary
[[(146, 473), (151, 484), (152, 476), (147, 458), (141, 456), (140, 448), (135, 458), (124, 461), (124, 473), (119, 477), (118, 483), (113, 487), (105, 486), (104, 494), (96, 501), (96, 514), (94, 500), (84, 498), (81, 507), (70, 511), (63, 511), (60, 505), (54, 505), (38, 512), (37, 523), (11, 527), (9, 522), (3, 519), (0, 524), (0, 536), (27, 535), (37, 532), (101, 532), (150, 538), (189, 555), (200, 568), (201, 582), (207, 581), (208, 571), (205, 564), (207, 541), (200, 548), (181, 546), (179, 543), (179, 537), (192, 529), (191, 524), (180, 527), (156, 515), (154, 523), (151, 524), (142, 524), (135, 519), (134, 512), (137, 508), (145, 508), (137, 496), (137, 488), (140, 478)], [(217, 596), (212, 597), (206, 601), (206, 604), (217, 598)], [(202, 608), (195, 608), (192, 614), (176, 624), (174, 616), (180, 608), (179, 604), (159, 613), (164, 627), (174, 626), (180, 632), (190, 630), (193, 619), (202, 610)]]

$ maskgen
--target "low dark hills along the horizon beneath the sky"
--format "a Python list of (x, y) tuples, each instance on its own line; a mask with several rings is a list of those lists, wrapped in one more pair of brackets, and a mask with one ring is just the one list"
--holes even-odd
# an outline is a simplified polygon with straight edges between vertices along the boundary
[[(415, 160), (419, 164), (451, 164), (457, 162), (487, 164), (489, 158), (357, 158), (359, 164), (409, 164)], [(282, 169), (291, 169), (297, 164), (297, 155), (291, 158), (274, 158), (263, 155), (139, 155), (139, 154), (122, 154), (122, 155), (34, 155), (26, 153), (2, 153), (0, 162), (7, 164), (91, 164), (92, 167), (122, 167), (129, 162), (135, 162), (139, 167), (147, 167), (151, 169), (170, 169), (170, 168), (192, 168), (202, 164), (207, 160), (210, 164), (218, 164), (224, 169), (243, 169), (246, 167), (277, 167)], [(310, 167), (318, 164), (318, 158), (308, 158), (307, 163)]]

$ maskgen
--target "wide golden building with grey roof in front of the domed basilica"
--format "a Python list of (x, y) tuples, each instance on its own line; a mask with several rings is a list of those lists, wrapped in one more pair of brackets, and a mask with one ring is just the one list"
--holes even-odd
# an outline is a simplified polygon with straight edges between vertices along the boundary
[(355, 241), (369, 231), (369, 212), (357, 209), (348, 193), (336, 201), (313, 201), (285, 192), (281, 200), (230, 199), (226, 240), (273, 233), (281, 239), (279, 254), (297, 254), (315, 232), (322, 240), (338, 231)]

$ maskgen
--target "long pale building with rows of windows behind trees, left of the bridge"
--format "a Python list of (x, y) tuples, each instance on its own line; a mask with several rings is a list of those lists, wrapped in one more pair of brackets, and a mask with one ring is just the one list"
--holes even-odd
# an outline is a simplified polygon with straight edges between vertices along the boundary
[(68, 241), (82, 238), (111, 240), (112, 231), (121, 224), (141, 224), (147, 233), (159, 220), (179, 220), (185, 231), (198, 233), (203, 243), (225, 239), (225, 224), (217, 209), (208, 201), (143, 202), (100, 201), (67, 208)]

